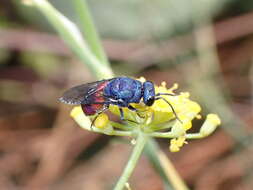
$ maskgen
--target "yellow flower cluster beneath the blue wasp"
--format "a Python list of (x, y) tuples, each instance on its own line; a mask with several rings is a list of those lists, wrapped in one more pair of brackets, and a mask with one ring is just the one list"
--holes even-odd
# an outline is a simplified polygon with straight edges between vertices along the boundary
[[(141, 78), (144, 82), (145, 79)], [(156, 93), (175, 94), (178, 88), (174, 84), (167, 89), (166, 83), (155, 86)], [(110, 121), (107, 114), (100, 114), (94, 122), (94, 127), (90, 128), (91, 121), (82, 112), (81, 107), (75, 107), (71, 116), (83, 128), (107, 135), (135, 137), (136, 130), (141, 130), (150, 137), (170, 139), (170, 151), (177, 152), (187, 144), (187, 139), (203, 138), (210, 135), (218, 125), (221, 124), (216, 114), (208, 114), (199, 133), (187, 133), (192, 127), (193, 119), (200, 119), (201, 107), (198, 103), (190, 100), (188, 92), (182, 92), (175, 96), (163, 96), (174, 108), (178, 119), (172, 108), (162, 99), (156, 100), (152, 106), (143, 103), (131, 104), (137, 112), (128, 108), (123, 108), (126, 122), (124, 124)], [(120, 115), (118, 106), (111, 105), (109, 111), (115, 115)], [(91, 117), (91, 119), (93, 119)]]

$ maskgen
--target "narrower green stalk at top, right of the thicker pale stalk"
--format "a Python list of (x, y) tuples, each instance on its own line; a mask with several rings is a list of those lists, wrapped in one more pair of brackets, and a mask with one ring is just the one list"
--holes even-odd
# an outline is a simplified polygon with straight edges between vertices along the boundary
[(102, 43), (94, 25), (86, 0), (73, 0), (72, 3), (76, 10), (77, 16), (79, 17), (81, 31), (84, 34), (91, 51), (103, 64), (109, 66), (108, 59), (101, 45)]

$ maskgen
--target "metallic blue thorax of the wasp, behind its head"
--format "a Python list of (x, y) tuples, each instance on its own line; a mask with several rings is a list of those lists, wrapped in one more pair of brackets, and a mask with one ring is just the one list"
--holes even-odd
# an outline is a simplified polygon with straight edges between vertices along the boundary
[(104, 88), (104, 96), (112, 100), (111, 104), (121, 107), (139, 103), (143, 96), (142, 83), (128, 77), (112, 79)]

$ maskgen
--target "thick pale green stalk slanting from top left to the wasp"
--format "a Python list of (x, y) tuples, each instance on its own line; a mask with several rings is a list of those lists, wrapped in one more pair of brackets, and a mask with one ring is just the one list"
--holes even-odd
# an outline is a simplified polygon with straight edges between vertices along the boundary
[(45, 15), (62, 39), (97, 78), (111, 78), (113, 75), (111, 68), (101, 64), (100, 60), (91, 52), (74, 23), (56, 10), (48, 1), (32, 0), (32, 2)]

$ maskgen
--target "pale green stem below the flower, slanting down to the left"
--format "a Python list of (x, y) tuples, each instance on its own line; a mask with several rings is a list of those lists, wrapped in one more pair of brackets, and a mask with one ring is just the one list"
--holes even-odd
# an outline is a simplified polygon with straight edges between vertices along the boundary
[(120, 179), (118, 180), (116, 186), (114, 187), (114, 190), (122, 190), (124, 188), (125, 184), (128, 182), (128, 179), (129, 179), (130, 175), (132, 174), (132, 172), (137, 164), (137, 161), (139, 160), (139, 157), (140, 157), (142, 150), (147, 142), (147, 139), (148, 139), (147, 136), (145, 136), (145, 134), (143, 134), (140, 131), (138, 134), (133, 152), (130, 156), (130, 159), (128, 160), (128, 163), (127, 163)]

